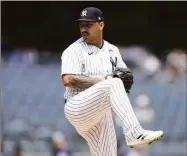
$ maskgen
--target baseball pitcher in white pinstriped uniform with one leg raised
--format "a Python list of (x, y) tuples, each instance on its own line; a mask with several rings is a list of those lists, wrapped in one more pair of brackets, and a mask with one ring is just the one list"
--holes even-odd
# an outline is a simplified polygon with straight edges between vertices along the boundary
[(85, 8), (77, 23), (82, 37), (61, 57), (64, 109), (69, 122), (87, 141), (91, 155), (117, 155), (112, 111), (121, 119), (127, 146), (160, 139), (163, 131), (143, 129), (135, 116), (128, 98), (133, 74), (118, 48), (103, 39), (102, 11)]

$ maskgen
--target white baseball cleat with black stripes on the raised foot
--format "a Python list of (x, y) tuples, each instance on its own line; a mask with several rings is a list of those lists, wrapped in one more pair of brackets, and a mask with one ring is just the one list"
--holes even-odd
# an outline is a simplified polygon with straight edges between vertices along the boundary
[(164, 136), (163, 131), (145, 131), (137, 139), (127, 142), (127, 146), (133, 148), (138, 145), (151, 144)]

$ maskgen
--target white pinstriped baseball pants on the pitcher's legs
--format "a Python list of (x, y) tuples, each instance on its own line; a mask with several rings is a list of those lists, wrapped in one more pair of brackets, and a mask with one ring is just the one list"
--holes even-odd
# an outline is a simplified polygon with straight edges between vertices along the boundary
[(92, 156), (117, 156), (112, 111), (121, 119), (125, 135), (139, 125), (123, 82), (118, 78), (93, 85), (65, 105), (67, 119), (87, 141)]

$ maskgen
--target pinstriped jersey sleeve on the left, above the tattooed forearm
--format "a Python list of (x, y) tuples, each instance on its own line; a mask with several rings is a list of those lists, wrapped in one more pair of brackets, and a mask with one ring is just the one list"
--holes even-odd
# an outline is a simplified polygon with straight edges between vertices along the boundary
[(82, 60), (77, 48), (68, 47), (61, 56), (61, 75), (81, 74)]

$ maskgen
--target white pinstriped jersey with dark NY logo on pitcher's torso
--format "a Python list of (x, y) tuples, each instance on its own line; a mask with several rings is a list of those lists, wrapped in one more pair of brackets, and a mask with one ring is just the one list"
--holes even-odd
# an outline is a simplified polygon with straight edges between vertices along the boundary
[[(61, 75), (78, 74), (105, 77), (112, 73), (116, 67), (127, 67), (118, 48), (105, 40), (100, 49), (87, 44), (83, 38), (80, 38), (64, 50), (61, 61)], [(64, 98), (68, 100), (81, 91), (83, 89), (66, 87)]]

